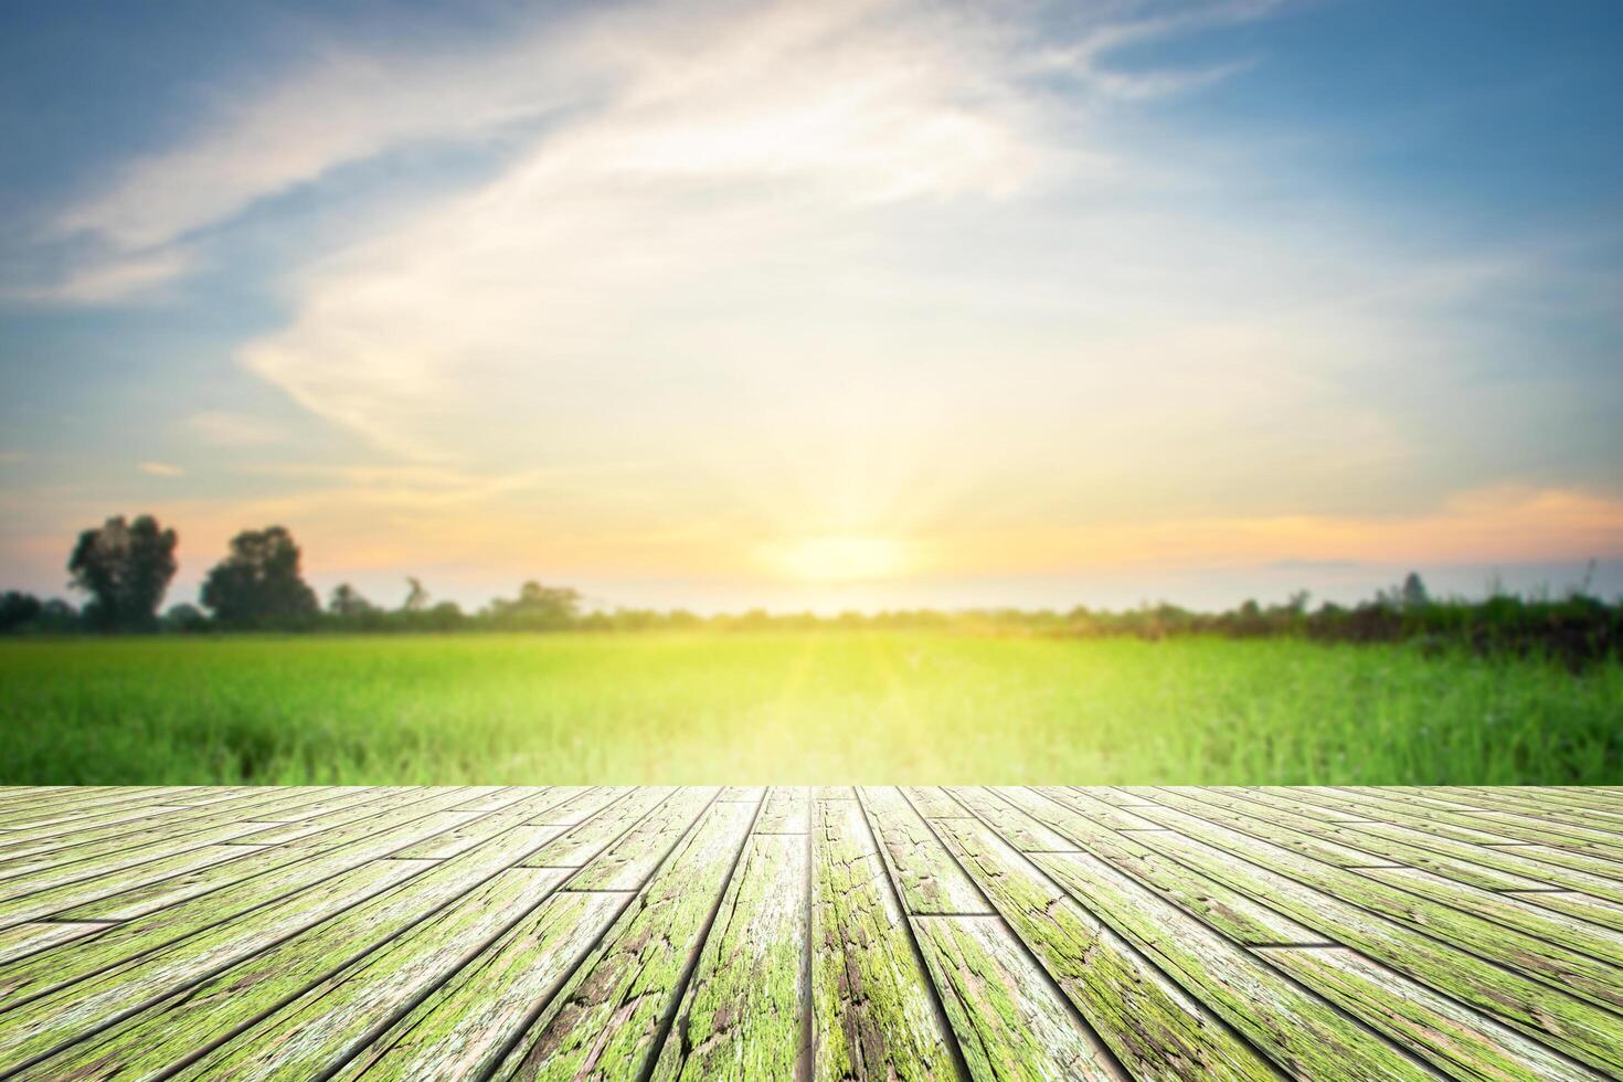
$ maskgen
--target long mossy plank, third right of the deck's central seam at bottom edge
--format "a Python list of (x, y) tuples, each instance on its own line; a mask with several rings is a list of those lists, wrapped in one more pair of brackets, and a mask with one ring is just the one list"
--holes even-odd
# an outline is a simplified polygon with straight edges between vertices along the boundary
[(1272, 1079), (1274, 1071), (1121, 936), (977, 819), (941, 839), (1133, 1077)]

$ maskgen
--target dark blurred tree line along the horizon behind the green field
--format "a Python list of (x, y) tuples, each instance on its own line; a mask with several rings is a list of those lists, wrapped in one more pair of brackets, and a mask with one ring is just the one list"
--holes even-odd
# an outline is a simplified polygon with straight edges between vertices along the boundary
[(153, 516), (122, 516), (86, 529), (68, 556), (70, 587), (86, 597), (75, 608), (23, 592), (0, 595), (0, 633), (153, 633), (153, 631), (821, 631), (935, 629), (969, 634), (1044, 634), (1066, 638), (1133, 636), (1167, 639), (1188, 634), (1233, 639), (1302, 638), (1328, 642), (1417, 641), (1425, 649), (1464, 646), (1479, 652), (1547, 654), (1573, 665), (1615, 659), (1623, 650), (1623, 599), (1591, 592), (1591, 576), (1560, 597), (1521, 597), (1492, 589), (1483, 600), (1433, 599), (1419, 574), (1357, 605), (1324, 602), (1310, 608), (1298, 592), (1282, 605), (1248, 600), (1219, 613), (1170, 603), (1110, 612), (982, 608), (962, 612), (891, 610), (769, 613), (750, 610), (700, 616), (685, 610), (617, 608), (586, 612), (579, 592), (531, 581), (513, 599), (477, 612), (456, 602), (435, 603), (407, 577), (398, 608), (367, 600), (339, 584), (323, 607), (304, 581), (302, 552), (281, 526), (242, 530), (209, 569), (201, 608), (179, 603), (159, 615), (175, 576), (179, 535)]

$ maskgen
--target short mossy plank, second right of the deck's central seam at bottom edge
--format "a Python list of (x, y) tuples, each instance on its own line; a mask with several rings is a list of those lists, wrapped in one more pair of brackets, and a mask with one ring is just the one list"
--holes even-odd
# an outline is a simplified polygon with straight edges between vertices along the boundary
[(912, 917), (975, 1079), (1123, 1079), (997, 917)]

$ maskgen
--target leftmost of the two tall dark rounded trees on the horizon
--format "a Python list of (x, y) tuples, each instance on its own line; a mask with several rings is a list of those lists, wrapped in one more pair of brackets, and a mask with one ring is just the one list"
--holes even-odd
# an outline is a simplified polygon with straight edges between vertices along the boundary
[(80, 534), (68, 558), (73, 589), (91, 595), (84, 618), (101, 631), (146, 631), (157, 626), (157, 605), (175, 577), (174, 530), (143, 514), (123, 516)]

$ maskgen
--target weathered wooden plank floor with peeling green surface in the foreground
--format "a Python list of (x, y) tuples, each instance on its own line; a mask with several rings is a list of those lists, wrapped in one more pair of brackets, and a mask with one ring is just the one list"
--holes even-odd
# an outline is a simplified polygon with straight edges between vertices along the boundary
[(1623, 1077), (1623, 790), (0, 788), (0, 1077)]

